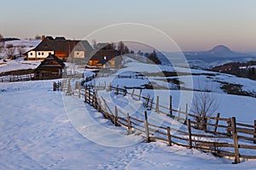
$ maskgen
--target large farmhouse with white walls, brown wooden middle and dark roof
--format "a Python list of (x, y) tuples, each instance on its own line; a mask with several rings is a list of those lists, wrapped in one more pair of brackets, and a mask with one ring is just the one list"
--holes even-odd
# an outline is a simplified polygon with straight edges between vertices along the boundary
[[(66, 40), (65, 37), (45, 37), (36, 48), (26, 53), (26, 59), (45, 59), (49, 54), (66, 60), (69, 56), (76, 59), (89, 58), (92, 48), (86, 40)], [(85, 62), (85, 60), (84, 60)]]

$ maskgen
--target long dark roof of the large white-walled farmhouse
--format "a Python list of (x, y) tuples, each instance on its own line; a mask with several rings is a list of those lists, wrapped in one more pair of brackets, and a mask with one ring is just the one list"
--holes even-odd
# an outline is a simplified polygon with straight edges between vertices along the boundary
[[(38, 46), (32, 50), (34, 51), (72, 51), (76, 45), (80, 46), (80, 50), (91, 52), (92, 48), (86, 40), (66, 40), (65, 37), (45, 37)], [(79, 47), (76, 47), (79, 48)]]

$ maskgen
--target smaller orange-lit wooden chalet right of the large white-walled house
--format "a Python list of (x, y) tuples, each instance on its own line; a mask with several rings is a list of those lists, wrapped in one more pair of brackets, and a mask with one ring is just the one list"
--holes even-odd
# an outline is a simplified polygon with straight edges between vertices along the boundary
[(120, 59), (118, 51), (111, 47), (110, 43), (98, 43), (96, 49), (90, 54), (88, 65), (91, 67), (118, 68)]

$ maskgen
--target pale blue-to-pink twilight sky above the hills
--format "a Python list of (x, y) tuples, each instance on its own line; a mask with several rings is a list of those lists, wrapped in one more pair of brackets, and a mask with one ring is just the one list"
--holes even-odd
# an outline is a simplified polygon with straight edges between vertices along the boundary
[(138, 23), (164, 31), (183, 50), (224, 44), (256, 52), (255, 8), (255, 0), (1, 0), (0, 34), (82, 39), (103, 26)]

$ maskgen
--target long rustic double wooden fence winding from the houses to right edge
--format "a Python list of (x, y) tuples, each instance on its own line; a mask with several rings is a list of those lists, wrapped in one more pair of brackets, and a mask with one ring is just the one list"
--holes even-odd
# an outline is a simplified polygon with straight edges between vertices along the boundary
[[(113, 87), (111, 84), (106, 86), (90, 87), (80, 86), (79, 82), (71, 85), (69, 80), (62, 80), (61, 89), (68, 95), (84, 98), (84, 101), (110, 119), (114, 125), (126, 127), (128, 134), (134, 131), (141, 132), (147, 142), (154, 140), (165, 141), (168, 145), (177, 144), (187, 148), (194, 148), (206, 152), (212, 152), (215, 156), (234, 157), (234, 163), (239, 163), (241, 158), (256, 159), (256, 121), (253, 125), (236, 122), (236, 117), (224, 118), (218, 113), (213, 116), (195, 116), (186, 110), (181, 111), (172, 108), (172, 96), (168, 106), (160, 105), (160, 99), (142, 95), (142, 89), (135, 93), (135, 89), (128, 92), (125, 88)], [(72, 88), (73, 87), (73, 88)], [(116, 95), (129, 95), (131, 99), (143, 101), (145, 111), (142, 113), (143, 118), (130, 116), (120, 110), (118, 106), (109, 106), (106, 99), (97, 99), (97, 90), (107, 90)], [(154, 110), (159, 114), (164, 114), (170, 120), (182, 122), (184, 128), (172, 126), (155, 125), (148, 122), (147, 111)], [(175, 114), (176, 113), (176, 114)], [(210, 121), (209, 121), (210, 120)], [(242, 151), (242, 152), (241, 152)], [(255, 154), (247, 154), (255, 152)]]

